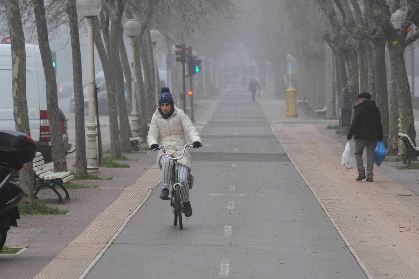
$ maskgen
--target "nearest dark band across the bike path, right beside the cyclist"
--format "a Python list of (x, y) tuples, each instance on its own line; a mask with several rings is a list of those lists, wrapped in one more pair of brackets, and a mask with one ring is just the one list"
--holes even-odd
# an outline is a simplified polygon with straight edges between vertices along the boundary
[(212, 162), (288, 162), (287, 154), (193, 152), (193, 161)]

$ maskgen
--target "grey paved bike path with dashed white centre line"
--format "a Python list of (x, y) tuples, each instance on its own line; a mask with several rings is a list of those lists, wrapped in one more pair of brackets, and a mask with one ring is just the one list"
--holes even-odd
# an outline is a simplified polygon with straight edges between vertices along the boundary
[(158, 187), (85, 278), (366, 278), (248, 92), (201, 137), (184, 229)]

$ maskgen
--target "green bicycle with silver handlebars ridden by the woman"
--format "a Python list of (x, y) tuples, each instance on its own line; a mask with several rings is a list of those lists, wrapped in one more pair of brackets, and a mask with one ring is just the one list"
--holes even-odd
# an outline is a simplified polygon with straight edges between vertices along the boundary
[[(164, 149), (163, 153), (166, 154), (167, 159), (169, 159), (170, 161), (174, 161), (173, 172), (172, 172), (173, 175), (171, 179), (172, 188), (170, 190), (170, 193), (171, 193), (170, 205), (172, 206), (172, 211), (173, 211), (173, 225), (177, 226), (178, 219), (179, 219), (179, 229), (183, 229), (182, 213), (184, 212), (185, 209), (184, 209), (183, 198), (182, 198), (182, 183), (179, 182), (179, 176), (178, 176), (178, 160), (182, 159), (183, 156), (185, 155), (186, 147), (194, 147), (194, 146), (192, 146), (192, 144), (189, 142), (186, 143), (183, 148), (182, 156), (175, 157), (175, 158), (173, 158), (172, 156), (168, 154), (166, 146), (164, 145), (159, 145), (158, 148), (153, 149), (153, 151), (155, 151), (155, 150), (160, 150), (160, 148), (163, 148)], [(199, 149), (197, 150), (199, 151)]]

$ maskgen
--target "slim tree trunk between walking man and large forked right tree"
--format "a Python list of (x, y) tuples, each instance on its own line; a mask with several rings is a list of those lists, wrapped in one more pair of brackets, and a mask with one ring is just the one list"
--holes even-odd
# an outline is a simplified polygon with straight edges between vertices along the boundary
[(390, 125), (388, 130), (388, 149), (387, 154), (396, 155), (398, 153), (398, 98), (397, 84), (394, 71), (391, 71), (391, 102), (390, 102)]

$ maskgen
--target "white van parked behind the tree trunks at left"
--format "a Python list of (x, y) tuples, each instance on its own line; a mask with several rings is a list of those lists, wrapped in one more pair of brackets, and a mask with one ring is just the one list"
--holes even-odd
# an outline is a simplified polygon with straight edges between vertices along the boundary
[[(47, 112), (47, 91), (44, 69), (39, 47), (26, 46), (26, 101), (28, 102), (31, 138), (44, 156), (45, 162), (52, 162), (51, 133)], [(10, 44), (0, 44), (0, 130), (16, 130), (13, 117), (12, 59)]]

